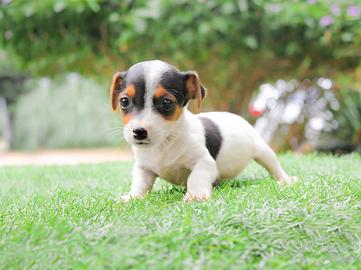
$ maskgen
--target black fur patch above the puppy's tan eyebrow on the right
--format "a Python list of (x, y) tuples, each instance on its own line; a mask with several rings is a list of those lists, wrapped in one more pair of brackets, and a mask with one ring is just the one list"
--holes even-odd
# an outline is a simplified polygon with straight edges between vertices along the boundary
[(169, 65), (169, 70), (164, 72), (160, 79), (160, 84), (172, 95), (175, 96), (180, 106), (184, 107), (187, 99), (186, 80), (184, 74), (175, 67)]

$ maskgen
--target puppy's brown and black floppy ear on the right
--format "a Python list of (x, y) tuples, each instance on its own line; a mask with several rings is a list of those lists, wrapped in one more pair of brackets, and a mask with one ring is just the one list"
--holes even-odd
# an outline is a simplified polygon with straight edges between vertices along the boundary
[(185, 72), (187, 98), (197, 100), (197, 108), (200, 109), (201, 102), (206, 96), (207, 89), (201, 84), (198, 73), (195, 71)]

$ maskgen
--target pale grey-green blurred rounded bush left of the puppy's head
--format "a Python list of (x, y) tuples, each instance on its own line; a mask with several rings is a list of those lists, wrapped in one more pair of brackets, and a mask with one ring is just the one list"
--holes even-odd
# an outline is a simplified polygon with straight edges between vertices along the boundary
[(90, 147), (121, 141), (121, 132), (111, 129), (120, 123), (111, 113), (106, 87), (77, 74), (29, 84), (29, 92), (14, 108), (15, 147)]

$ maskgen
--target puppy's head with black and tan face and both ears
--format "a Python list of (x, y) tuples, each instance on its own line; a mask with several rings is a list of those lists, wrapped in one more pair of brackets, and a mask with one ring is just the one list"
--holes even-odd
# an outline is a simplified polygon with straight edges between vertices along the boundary
[(124, 124), (124, 138), (137, 147), (161, 144), (172, 134), (188, 101), (198, 107), (206, 94), (194, 71), (180, 72), (159, 61), (140, 62), (114, 74), (111, 106)]

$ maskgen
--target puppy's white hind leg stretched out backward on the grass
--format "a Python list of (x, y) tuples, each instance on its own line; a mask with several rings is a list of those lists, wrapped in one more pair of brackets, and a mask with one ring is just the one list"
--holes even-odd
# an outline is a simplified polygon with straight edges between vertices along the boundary
[(297, 181), (296, 176), (288, 176), (279, 163), (276, 154), (261, 138), (255, 146), (254, 159), (272, 174), (278, 183), (292, 184)]

